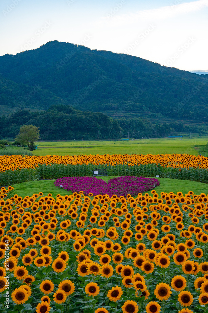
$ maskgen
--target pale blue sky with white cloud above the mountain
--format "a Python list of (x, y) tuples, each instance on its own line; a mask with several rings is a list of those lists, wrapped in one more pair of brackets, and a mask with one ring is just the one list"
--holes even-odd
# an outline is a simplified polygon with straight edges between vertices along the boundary
[(1, 0), (0, 55), (51, 40), (208, 71), (208, 0)]

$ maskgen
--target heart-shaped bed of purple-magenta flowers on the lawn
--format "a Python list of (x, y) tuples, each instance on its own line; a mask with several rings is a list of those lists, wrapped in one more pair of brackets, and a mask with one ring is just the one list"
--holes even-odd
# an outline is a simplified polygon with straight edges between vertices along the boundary
[(108, 183), (96, 177), (62, 177), (56, 179), (55, 186), (62, 187), (71, 192), (83, 191), (85, 195), (116, 194), (118, 197), (131, 194), (136, 196), (139, 192), (146, 192), (159, 186), (156, 178), (122, 176), (109, 179)]

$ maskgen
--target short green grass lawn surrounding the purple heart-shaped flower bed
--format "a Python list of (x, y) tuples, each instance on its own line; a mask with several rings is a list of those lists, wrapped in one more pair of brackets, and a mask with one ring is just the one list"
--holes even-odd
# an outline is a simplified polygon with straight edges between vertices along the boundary
[[(99, 177), (105, 181), (108, 181), (111, 176), (108, 177)], [(192, 182), (192, 181), (184, 181), (184, 180), (177, 180), (171, 178), (159, 178), (160, 186), (156, 187), (155, 190), (158, 194), (160, 192), (174, 192), (177, 193), (178, 191), (183, 192), (186, 194), (188, 191), (192, 190), (196, 194), (200, 194), (202, 192), (208, 193), (208, 184), (204, 184), (201, 182)], [(41, 180), (41, 181), (32, 181), (32, 182), (23, 182), (21, 184), (13, 185), (14, 190), (12, 191), (12, 195), (17, 193), (21, 197), (31, 196), (33, 193), (36, 192), (43, 192), (46, 196), (48, 193), (51, 193), (53, 197), (56, 197), (58, 193), (60, 195), (65, 196), (70, 194), (70, 192), (56, 187), (54, 185), (55, 179), (52, 180)], [(150, 193), (150, 191), (149, 191)]]

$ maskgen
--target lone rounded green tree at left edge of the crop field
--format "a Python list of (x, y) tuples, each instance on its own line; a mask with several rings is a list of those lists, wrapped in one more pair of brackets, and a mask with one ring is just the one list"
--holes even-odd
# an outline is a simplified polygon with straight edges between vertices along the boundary
[(30, 151), (35, 149), (34, 142), (40, 138), (39, 129), (33, 125), (24, 125), (20, 128), (20, 132), (16, 140), (22, 145), (27, 145)]

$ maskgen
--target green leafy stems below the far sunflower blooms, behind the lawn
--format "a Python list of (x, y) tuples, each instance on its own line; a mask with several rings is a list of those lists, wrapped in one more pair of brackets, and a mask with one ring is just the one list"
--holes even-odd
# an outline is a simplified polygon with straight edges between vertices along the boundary
[(0, 185), (8, 186), (21, 182), (29, 182), (41, 179), (56, 179), (61, 177), (75, 177), (75, 176), (93, 176), (93, 170), (97, 168), (105, 168), (108, 171), (108, 176), (144, 176), (144, 177), (159, 177), (174, 178), (182, 180), (191, 180), (196, 182), (208, 183), (208, 170), (190, 167), (188, 170), (182, 168), (181, 172), (178, 168), (162, 167), (156, 164), (142, 164), (142, 165), (92, 165), (92, 164), (77, 164), (64, 165), (52, 164), (39, 165), (36, 170), (22, 169), (16, 171), (0, 172)]

